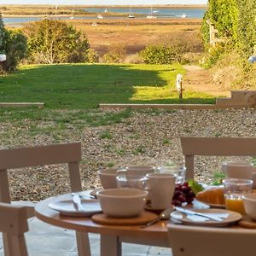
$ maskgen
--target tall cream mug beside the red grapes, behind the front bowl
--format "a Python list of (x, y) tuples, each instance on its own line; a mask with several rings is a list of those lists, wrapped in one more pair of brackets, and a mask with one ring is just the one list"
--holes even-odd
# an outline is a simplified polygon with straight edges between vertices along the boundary
[(163, 210), (170, 207), (175, 189), (176, 177), (170, 173), (148, 173), (148, 209)]

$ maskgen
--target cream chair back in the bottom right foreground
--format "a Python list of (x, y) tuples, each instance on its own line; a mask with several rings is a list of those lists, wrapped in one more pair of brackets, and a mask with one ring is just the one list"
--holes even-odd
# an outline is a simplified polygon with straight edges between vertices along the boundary
[(256, 230), (168, 225), (173, 256), (241, 256), (255, 253)]

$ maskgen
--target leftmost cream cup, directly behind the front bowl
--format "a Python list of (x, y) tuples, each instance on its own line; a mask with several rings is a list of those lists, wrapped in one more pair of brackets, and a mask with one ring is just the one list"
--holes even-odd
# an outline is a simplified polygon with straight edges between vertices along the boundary
[(98, 171), (103, 189), (115, 189), (117, 187), (117, 171), (118, 168), (107, 168)]

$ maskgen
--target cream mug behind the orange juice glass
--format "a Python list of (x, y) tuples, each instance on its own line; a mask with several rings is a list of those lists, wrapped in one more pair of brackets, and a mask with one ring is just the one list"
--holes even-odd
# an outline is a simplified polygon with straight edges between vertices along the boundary
[(222, 165), (227, 177), (253, 179), (253, 165), (245, 162), (227, 162)]

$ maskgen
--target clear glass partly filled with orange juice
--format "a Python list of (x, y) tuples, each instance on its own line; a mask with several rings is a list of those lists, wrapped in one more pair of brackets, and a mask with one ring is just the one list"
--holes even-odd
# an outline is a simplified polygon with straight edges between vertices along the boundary
[(243, 195), (253, 189), (253, 180), (243, 178), (227, 178), (223, 180), (225, 207), (227, 210), (245, 214)]

